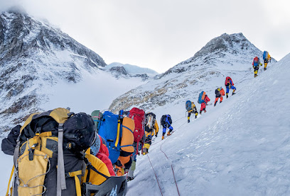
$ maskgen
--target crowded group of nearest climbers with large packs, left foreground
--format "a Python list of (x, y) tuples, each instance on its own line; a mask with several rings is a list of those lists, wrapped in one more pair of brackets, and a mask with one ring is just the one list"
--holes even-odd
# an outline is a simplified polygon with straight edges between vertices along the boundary
[[(171, 135), (171, 124), (170, 115), (161, 117), (162, 139), (167, 128)], [(33, 113), (1, 144), (14, 156), (6, 196), (126, 195), (137, 154), (149, 153), (158, 132), (156, 115), (139, 108), (118, 115), (70, 108)]]

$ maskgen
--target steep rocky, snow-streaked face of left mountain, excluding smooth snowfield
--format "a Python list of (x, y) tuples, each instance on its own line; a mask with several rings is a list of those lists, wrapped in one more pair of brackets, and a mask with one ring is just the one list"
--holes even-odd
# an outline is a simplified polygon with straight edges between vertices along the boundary
[[(0, 14), (0, 65), (1, 130), (43, 111), (60, 83), (74, 85), (96, 77), (114, 81), (99, 54), (49, 23), (18, 11)], [(136, 77), (122, 78), (136, 82)]]

